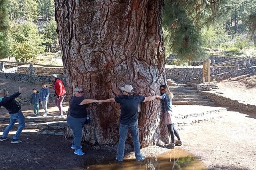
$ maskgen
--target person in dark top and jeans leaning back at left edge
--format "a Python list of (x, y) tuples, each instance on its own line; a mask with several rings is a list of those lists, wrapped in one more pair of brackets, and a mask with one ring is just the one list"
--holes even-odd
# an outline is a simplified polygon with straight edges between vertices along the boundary
[(5, 107), (10, 114), (10, 123), (5, 128), (3, 135), (0, 138), (0, 141), (4, 141), (7, 139), (9, 131), (13, 127), (16, 120), (18, 120), (18, 130), (15, 136), (13, 136), (11, 143), (16, 144), (21, 142), (21, 140), (19, 140), (18, 138), (25, 127), (25, 118), (21, 111), (21, 105), (15, 100), (15, 98), (18, 97), (25, 89), (25, 87), (19, 87), (18, 92), (12, 94), (11, 96), (8, 96), (8, 91), (6, 89), (0, 89), (0, 106)]

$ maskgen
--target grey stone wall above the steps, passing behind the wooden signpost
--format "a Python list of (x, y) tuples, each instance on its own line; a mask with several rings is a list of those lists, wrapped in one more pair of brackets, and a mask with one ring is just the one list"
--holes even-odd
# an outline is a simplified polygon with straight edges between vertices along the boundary
[[(216, 75), (223, 72), (234, 70), (234, 67), (218, 67), (211, 68), (210, 74)], [(176, 82), (186, 83), (192, 78), (202, 77), (202, 68), (166, 68), (165, 75), (167, 79), (172, 79)]]

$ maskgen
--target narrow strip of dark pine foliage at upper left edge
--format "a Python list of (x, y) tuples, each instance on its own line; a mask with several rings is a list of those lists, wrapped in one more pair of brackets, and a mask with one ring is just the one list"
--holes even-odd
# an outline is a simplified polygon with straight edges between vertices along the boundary
[(0, 0), (0, 59), (8, 57), (6, 36), (8, 23), (8, 0)]

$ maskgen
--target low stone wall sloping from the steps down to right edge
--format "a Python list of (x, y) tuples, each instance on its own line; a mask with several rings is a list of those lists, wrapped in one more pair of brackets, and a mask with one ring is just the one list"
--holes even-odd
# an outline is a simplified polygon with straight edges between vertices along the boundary
[(221, 96), (219, 94), (212, 93), (212, 92), (206, 92), (206, 91), (199, 91), (199, 92), (205, 95), (207, 98), (210, 98), (211, 100), (217, 102), (220, 105), (256, 113), (256, 105), (241, 103), (241, 102), (238, 102), (237, 100), (232, 100), (230, 98), (226, 98), (224, 96)]

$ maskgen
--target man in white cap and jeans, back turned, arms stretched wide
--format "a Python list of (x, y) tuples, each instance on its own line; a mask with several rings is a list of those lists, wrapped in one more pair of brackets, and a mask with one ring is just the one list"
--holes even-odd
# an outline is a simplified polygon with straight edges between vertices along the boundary
[(134, 95), (134, 89), (131, 85), (125, 85), (121, 87), (123, 95), (117, 96), (115, 98), (110, 98), (106, 100), (100, 100), (99, 103), (104, 102), (117, 102), (121, 105), (121, 117), (120, 117), (120, 127), (119, 127), (119, 144), (117, 149), (117, 161), (123, 161), (125, 141), (130, 129), (131, 136), (133, 139), (134, 153), (136, 161), (143, 161), (145, 156), (140, 153), (140, 142), (139, 142), (139, 128), (138, 128), (138, 105), (141, 102), (151, 101), (160, 96), (148, 96), (144, 97), (141, 95)]

